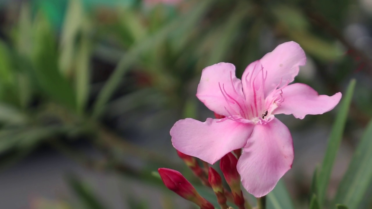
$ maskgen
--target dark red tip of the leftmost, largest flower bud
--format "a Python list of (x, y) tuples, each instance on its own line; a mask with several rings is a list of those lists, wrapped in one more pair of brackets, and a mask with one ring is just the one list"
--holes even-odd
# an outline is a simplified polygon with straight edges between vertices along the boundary
[(196, 195), (195, 188), (180, 172), (169, 168), (159, 168), (158, 172), (164, 185), (179, 196), (189, 199)]

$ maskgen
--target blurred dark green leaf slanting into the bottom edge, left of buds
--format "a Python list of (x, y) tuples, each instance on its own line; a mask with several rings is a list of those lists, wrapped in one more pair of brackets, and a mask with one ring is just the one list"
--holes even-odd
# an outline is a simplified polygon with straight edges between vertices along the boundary
[(107, 209), (107, 207), (103, 206), (103, 204), (93, 193), (92, 189), (86, 183), (83, 183), (73, 175), (68, 176), (67, 180), (71, 188), (80, 198), (81, 202), (84, 203), (87, 209)]

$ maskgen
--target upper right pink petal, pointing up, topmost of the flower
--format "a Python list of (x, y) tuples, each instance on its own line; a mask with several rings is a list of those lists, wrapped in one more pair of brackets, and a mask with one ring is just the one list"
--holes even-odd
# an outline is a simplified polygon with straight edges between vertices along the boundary
[(296, 42), (290, 41), (278, 45), (272, 52), (260, 60), (267, 71), (265, 95), (278, 87), (291, 83), (298, 74), (299, 66), (306, 64), (304, 50)]

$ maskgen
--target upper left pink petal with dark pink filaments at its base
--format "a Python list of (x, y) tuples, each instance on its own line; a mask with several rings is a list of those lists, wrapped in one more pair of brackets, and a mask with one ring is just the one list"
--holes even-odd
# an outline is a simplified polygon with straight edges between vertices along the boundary
[(243, 115), (241, 81), (233, 64), (220, 62), (204, 68), (196, 96), (219, 115)]

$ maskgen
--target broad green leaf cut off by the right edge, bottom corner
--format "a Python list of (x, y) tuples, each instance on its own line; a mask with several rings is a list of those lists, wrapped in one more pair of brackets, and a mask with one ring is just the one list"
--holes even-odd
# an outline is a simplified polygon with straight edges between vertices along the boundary
[(350, 209), (359, 208), (368, 188), (372, 185), (372, 120), (368, 123), (359, 145), (339, 184), (333, 203), (342, 203)]

